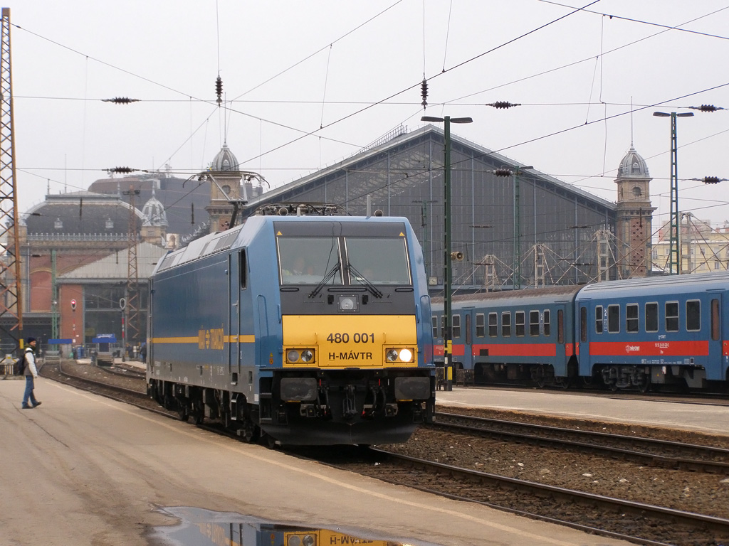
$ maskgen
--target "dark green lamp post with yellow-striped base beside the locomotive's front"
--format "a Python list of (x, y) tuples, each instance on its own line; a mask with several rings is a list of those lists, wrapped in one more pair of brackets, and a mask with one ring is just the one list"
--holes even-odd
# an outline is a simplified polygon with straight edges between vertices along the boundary
[(443, 165), (443, 222), (445, 224), (445, 248), (443, 250), (443, 366), (445, 372), (445, 390), (453, 390), (453, 363), (451, 355), (451, 123), (472, 123), (469, 117), (421, 117), (423, 122), (443, 122), (445, 138), (445, 162)]

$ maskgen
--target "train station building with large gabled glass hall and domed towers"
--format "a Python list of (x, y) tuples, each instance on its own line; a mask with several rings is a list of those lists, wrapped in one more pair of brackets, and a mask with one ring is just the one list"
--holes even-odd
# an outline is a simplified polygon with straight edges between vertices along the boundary
[[(113, 330), (119, 339), (120, 300), (128, 301), (130, 286), (138, 285), (138, 336), (144, 337), (154, 264), (168, 250), (227, 229), (234, 201), (247, 201), (238, 222), (284, 202), (405, 216), (424, 249), (432, 294), (440, 295), (444, 146), (441, 127), (399, 127), (335, 165), (265, 191), (224, 144), (208, 170), (187, 179), (165, 169), (110, 175), (88, 191), (49, 194), (20, 221), (24, 331), (88, 342)], [(632, 146), (619, 164), (617, 202), (541, 173), (528, 158), (505, 157), (458, 135), (451, 135), (451, 167), (451, 248), (462, 256), (453, 261), (454, 290), (570, 285), (650, 272), (655, 209), (647, 165)], [(71, 299), (78, 302), (75, 312)]]

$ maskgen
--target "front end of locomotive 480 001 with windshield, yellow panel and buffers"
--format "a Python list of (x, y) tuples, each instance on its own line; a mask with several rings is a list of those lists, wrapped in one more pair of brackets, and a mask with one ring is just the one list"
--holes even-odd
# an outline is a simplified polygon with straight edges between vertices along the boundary
[(434, 411), (422, 350), (429, 299), (410, 226), (370, 218), (273, 229), (282, 342), (262, 378), (262, 430), (294, 444), (406, 440)]

